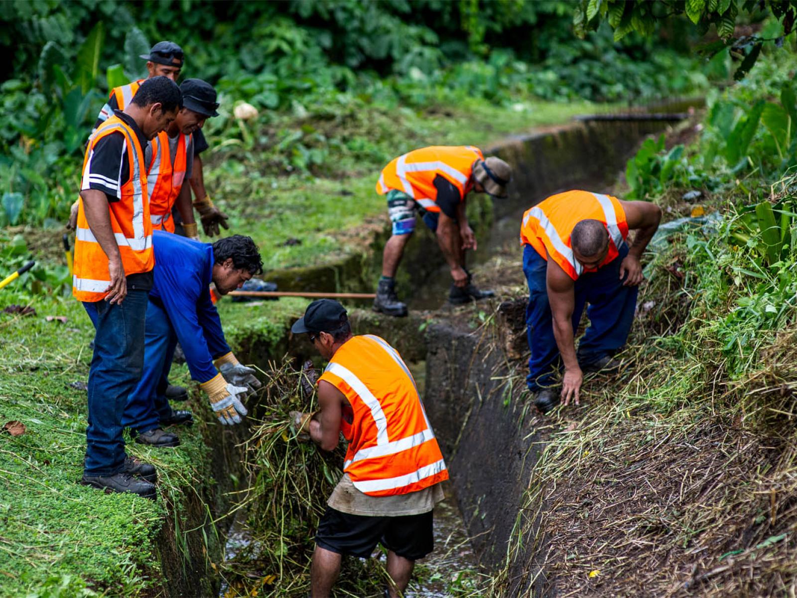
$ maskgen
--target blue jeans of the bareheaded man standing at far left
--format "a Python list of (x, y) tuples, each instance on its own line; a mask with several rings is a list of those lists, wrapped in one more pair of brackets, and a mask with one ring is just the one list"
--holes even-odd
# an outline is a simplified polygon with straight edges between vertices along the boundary
[(83, 302), (96, 330), (88, 370), (86, 475), (113, 475), (124, 468), (122, 413), (143, 368), (148, 294), (128, 289), (121, 305)]

